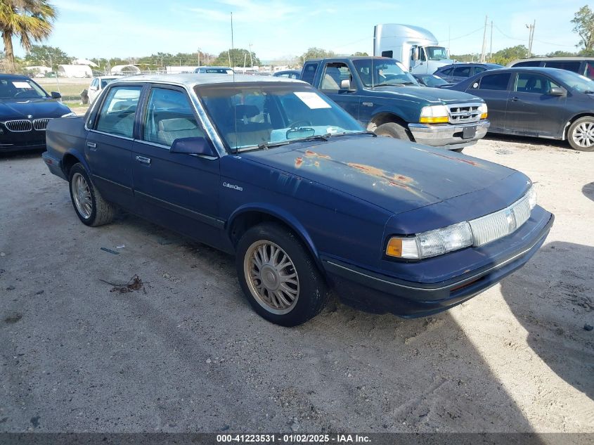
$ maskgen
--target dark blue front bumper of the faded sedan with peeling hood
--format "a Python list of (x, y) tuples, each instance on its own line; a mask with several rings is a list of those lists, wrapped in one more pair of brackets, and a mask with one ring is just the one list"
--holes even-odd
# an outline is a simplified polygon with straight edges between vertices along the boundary
[[(548, 214), (548, 212), (547, 212)], [(436, 314), (456, 306), (496, 285), (524, 266), (543, 245), (555, 217), (541, 221), (523, 238), (516, 250), (463, 276), (440, 283), (415, 283), (375, 273), (334, 258), (323, 258), (323, 266), (344, 303), (376, 314), (386, 312), (415, 318)], [(526, 224), (529, 224), (528, 222)], [(534, 224), (534, 223), (533, 223)]]

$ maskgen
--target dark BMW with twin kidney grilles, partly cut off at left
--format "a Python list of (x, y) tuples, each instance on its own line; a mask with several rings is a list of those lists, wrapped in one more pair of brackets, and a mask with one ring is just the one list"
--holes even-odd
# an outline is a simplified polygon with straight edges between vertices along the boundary
[(0, 75), (0, 153), (46, 146), (46, 126), (54, 117), (73, 115), (32, 79)]

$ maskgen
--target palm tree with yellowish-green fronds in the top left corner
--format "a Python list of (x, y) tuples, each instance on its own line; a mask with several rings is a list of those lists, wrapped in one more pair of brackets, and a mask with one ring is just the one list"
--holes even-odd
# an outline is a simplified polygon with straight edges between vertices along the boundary
[(0, 0), (0, 32), (4, 40), (8, 72), (15, 70), (13, 36), (29, 51), (32, 41), (49, 37), (56, 19), (56, 8), (47, 0)]

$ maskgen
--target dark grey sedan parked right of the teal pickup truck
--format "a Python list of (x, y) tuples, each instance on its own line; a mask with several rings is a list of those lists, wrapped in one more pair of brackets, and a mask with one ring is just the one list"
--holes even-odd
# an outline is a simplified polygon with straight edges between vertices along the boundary
[(594, 81), (556, 68), (505, 68), (450, 87), (482, 97), (491, 133), (569, 141), (594, 151)]

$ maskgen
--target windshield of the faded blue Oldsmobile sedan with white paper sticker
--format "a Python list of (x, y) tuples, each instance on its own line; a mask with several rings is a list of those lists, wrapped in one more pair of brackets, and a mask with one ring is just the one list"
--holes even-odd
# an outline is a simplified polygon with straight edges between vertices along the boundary
[(347, 112), (305, 84), (196, 86), (210, 121), (233, 151), (363, 131)]

